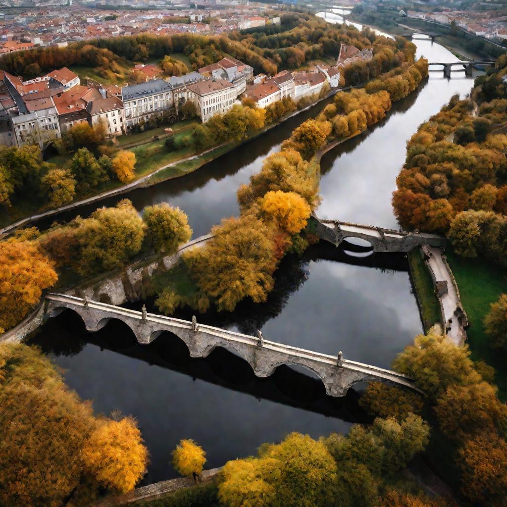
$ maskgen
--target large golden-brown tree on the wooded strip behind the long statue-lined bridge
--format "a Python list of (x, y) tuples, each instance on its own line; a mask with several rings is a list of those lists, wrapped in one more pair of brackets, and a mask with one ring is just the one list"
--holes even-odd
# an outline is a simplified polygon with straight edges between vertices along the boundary
[(239, 301), (266, 301), (276, 267), (272, 231), (251, 216), (231, 218), (214, 227), (204, 247), (187, 254), (192, 275), (219, 310), (232, 311)]

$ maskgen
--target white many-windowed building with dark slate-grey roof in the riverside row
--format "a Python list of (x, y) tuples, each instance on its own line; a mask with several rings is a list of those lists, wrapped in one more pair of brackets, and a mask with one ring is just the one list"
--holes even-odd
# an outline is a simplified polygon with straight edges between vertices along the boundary
[(125, 129), (168, 111), (173, 106), (172, 90), (173, 87), (163, 79), (122, 87)]

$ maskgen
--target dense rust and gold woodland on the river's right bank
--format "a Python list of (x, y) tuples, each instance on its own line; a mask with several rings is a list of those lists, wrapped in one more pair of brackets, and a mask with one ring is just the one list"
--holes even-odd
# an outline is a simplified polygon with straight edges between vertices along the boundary
[(393, 206), (407, 228), (449, 234), (466, 257), (503, 266), (507, 251), (507, 76), (503, 56), (472, 95), (454, 96), (407, 144)]

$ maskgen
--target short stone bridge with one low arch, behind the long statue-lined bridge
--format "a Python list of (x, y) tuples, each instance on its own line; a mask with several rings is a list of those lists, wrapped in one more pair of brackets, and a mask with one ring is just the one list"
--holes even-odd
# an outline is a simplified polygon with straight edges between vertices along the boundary
[(368, 241), (375, 252), (409, 252), (420, 245), (445, 246), (446, 238), (436, 234), (397, 231), (372, 225), (322, 220), (313, 215), (319, 239), (338, 246), (346, 238)]

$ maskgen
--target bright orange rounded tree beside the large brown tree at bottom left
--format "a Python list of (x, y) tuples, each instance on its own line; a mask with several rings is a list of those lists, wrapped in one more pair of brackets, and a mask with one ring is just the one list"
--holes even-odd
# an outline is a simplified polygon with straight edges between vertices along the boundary
[(133, 417), (99, 421), (81, 456), (97, 481), (120, 493), (134, 489), (148, 464), (148, 449)]

